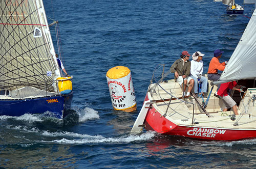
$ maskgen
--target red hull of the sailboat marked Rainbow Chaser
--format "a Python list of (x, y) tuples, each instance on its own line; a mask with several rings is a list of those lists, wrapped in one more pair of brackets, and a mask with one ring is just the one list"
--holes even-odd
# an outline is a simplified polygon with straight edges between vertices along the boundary
[[(144, 101), (146, 100), (148, 100), (147, 95)], [(256, 137), (256, 130), (179, 126), (161, 116), (154, 106), (148, 109), (144, 124), (146, 130), (153, 130), (167, 135), (181, 135), (199, 139), (237, 140)]]

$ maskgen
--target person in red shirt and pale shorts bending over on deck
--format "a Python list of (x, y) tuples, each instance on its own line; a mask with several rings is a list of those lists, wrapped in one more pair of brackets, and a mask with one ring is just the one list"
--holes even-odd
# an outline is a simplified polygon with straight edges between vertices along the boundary
[(218, 90), (218, 95), (225, 104), (223, 111), (227, 111), (228, 108), (232, 107), (234, 115), (238, 115), (237, 103), (228, 95), (228, 89), (243, 92), (243, 90), (239, 88), (241, 88), (241, 86), (238, 85), (236, 81), (221, 84), (220, 89)]

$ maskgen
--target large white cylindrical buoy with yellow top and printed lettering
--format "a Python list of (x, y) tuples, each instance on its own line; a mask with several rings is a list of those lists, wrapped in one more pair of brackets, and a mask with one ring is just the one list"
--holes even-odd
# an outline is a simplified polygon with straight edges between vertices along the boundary
[(106, 72), (110, 97), (115, 110), (126, 112), (137, 109), (131, 70), (124, 66), (116, 66)]

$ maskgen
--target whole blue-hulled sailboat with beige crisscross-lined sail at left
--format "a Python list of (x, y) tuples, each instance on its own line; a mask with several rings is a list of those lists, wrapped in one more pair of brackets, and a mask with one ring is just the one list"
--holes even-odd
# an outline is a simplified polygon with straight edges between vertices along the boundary
[(58, 90), (61, 72), (42, 1), (0, 1), (0, 9), (0, 115), (65, 118), (73, 91)]

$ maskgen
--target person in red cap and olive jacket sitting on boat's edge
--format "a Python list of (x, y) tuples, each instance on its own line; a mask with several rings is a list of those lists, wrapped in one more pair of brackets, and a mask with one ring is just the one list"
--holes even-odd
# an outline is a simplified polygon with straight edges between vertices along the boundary
[[(191, 67), (191, 63), (189, 62), (190, 54), (187, 51), (183, 51), (180, 57), (181, 59), (176, 60), (170, 67), (170, 71), (174, 73), (175, 81), (182, 86), (182, 96), (189, 97), (194, 86), (194, 80), (189, 76)], [(186, 86), (188, 86), (187, 94), (185, 92)]]

